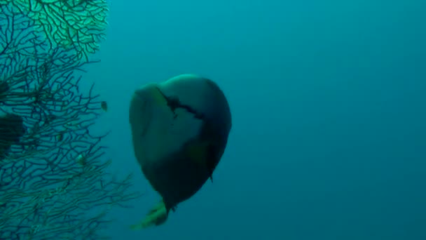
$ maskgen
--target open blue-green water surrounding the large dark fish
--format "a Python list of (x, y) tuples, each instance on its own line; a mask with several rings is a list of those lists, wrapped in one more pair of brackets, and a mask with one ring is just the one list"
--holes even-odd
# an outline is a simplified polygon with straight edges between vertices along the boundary
[[(108, 229), (132, 239), (426, 239), (426, 1), (109, 2), (85, 79), (114, 173), (144, 196)], [(166, 224), (132, 231), (159, 200), (132, 152), (135, 89), (216, 81), (233, 128), (214, 182)]]

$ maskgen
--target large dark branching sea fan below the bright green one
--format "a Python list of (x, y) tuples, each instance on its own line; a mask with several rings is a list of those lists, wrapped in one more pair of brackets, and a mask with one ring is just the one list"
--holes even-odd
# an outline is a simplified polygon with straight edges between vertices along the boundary
[(0, 0), (0, 239), (100, 239), (109, 209), (139, 194), (109, 175), (92, 134), (99, 96), (78, 74), (91, 62), (18, 2)]

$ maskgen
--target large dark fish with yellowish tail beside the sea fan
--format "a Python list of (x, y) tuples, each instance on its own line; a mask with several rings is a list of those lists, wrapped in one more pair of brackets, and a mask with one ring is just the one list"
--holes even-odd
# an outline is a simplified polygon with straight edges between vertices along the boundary
[(213, 179), (231, 131), (231, 109), (212, 80), (182, 74), (137, 89), (129, 122), (135, 159), (162, 198), (131, 229), (163, 225), (170, 210)]

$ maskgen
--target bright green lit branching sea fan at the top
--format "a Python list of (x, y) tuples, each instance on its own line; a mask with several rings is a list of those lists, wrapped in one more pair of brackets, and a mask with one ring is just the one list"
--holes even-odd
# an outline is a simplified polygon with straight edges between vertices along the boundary
[(51, 45), (75, 48), (78, 58), (99, 49), (107, 28), (106, 0), (0, 0), (0, 6), (25, 13)]

